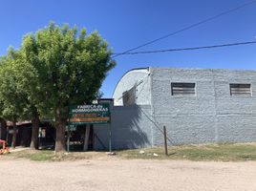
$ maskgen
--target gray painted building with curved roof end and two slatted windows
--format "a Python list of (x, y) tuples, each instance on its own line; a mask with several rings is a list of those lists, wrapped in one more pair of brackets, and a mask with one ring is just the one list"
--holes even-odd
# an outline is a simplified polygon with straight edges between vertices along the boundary
[(160, 145), (163, 125), (172, 144), (255, 141), (255, 95), (256, 71), (131, 70), (113, 95), (114, 148)]

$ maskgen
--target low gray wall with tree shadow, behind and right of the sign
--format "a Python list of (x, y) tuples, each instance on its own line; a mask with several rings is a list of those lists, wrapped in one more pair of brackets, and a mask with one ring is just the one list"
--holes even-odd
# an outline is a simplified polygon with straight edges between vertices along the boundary
[[(151, 107), (149, 105), (112, 107), (112, 148), (117, 150), (151, 146), (152, 122), (143, 114), (150, 114), (150, 111)], [(109, 145), (109, 128), (109, 125), (94, 126), (96, 136), (107, 148)], [(104, 149), (97, 139), (95, 147), (96, 150)]]

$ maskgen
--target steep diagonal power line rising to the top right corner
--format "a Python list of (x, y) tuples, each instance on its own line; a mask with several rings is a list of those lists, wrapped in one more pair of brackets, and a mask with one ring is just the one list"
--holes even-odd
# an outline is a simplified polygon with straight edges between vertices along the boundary
[(147, 45), (153, 44), (153, 43), (155, 43), (155, 42), (157, 42), (157, 41), (160, 41), (160, 40), (162, 40), (162, 39), (164, 39), (164, 38), (167, 38), (167, 37), (169, 37), (169, 36), (175, 35), (175, 34), (177, 34), (177, 33), (190, 30), (190, 29), (195, 28), (195, 27), (197, 27), (197, 26), (200, 26), (200, 25), (202, 25), (202, 24), (204, 24), (204, 23), (206, 23), (206, 22), (209, 22), (209, 21), (214, 20), (214, 19), (216, 19), (216, 18), (219, 18), (219, 17), (221, 17), (221, 16), (223, 16), (223, 15), (225, 15), (225, 14), (228, 14), (228, 13), (230, 13), (230, 12), (232, 12), (232, 11), (238, 11), (238, 10), (240, 10), (240, 9), (243, 9), (243, 8), (245, 8), (246, 6), (249, 6), (249, 5), (254, 4), (254, 3), (256, 3), (256, 0), (249, 1), (249, 2), (247, 2), (247, 3), (245, 3), (245, 4), (241, 5), (241, 6), (232, 8), (232, 9), (227, 10), (227, 11), (223, 11), (223, 12), (221, 12), (221, 13), (219, 13), (219, 14), (214, 15), (214, 16), (210, 16), (210, 17), (208, 17), (208, 18), (206, 18), (206, 19), (203, 19), (203, 20), (200, 21), (200, 22), (197, 22), (197, 23), (194, 23), (194, 24), (189, 25), (189, 26), (187, 26), (187, 27), (184, 27), (184, 28), (182, 28), (181, 30), (178, 30), (178, 31), (176, 31), (176, 32), (171, 32), (171, 33), (165, 34), (165, 35), (163, 35), (163, 36), (160, 36), (159, 38), (156, 38), (156, 39), (154, 39), (154, 40), (151, 40), (151, 41), (149, 41), (149, 42), (146, 42), (146, 43), (144, 43), (144, 44), (141, 44), (141, 45), (139, 45), (138, 47), (135, 47), (135, 48), (133, 48), (133, 49), (129, 49), (129, 50), (127, 50), (127, 51), (125, 51), (125, 52), (122, 52), (122, 53), (117, 53), (117, 54), (113, 55), (112, 58), (117, 57), (117, 56), (122, 55), (122, 54), (130, 53), (130, 52), (132, 52), (132, 51), (138, 50), (138, 49), (140, 49), (140, 48), (142, 48), (142, 47), (145, 47), (145, 46), (147, 46)]

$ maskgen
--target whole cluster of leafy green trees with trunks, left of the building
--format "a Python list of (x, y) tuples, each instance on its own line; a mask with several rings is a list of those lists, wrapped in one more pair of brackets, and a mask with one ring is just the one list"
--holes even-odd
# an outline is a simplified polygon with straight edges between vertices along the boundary
[(111, 54), (97, 32), (51, 22), (0, 56), (0, 122), (13, 124), (11, 147), (16, 146), (16, 122), (31, 120), (31, 148), (38, 149), (40, 120), (49, 118), (56, 128), (55, 152), (65, 152), (70, 106), (102, 96), (101, 84), (116, 65)]

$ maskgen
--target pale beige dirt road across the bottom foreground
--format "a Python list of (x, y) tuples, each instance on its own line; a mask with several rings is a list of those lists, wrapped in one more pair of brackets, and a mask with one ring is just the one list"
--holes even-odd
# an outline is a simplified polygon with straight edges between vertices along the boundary
[(256, 162), (1, 159), (1, 191), (255, 190)]

